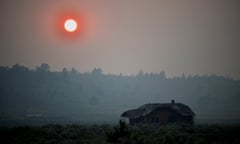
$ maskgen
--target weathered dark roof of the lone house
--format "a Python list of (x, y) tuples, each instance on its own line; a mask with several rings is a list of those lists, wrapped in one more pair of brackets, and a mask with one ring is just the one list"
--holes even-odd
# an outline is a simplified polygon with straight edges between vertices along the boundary
[(137, 109), (125, 111), (121, 114), (122, 117), (138, 118), (145, 116), (156, 109), (171, 109), (183, 116), (194, 116), (195, 113), (187, 106), (181, 103), (151, 103), (144, 104)]

